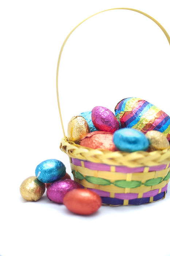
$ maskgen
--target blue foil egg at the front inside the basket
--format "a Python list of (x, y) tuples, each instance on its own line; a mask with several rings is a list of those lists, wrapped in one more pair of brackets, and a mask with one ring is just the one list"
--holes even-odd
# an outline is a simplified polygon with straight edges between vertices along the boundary
[(135, 152), (146, 151), (149, 140), (146, 136), (135, 129), (123, 128), (114, 133), (113, 143), (120, 151)]

